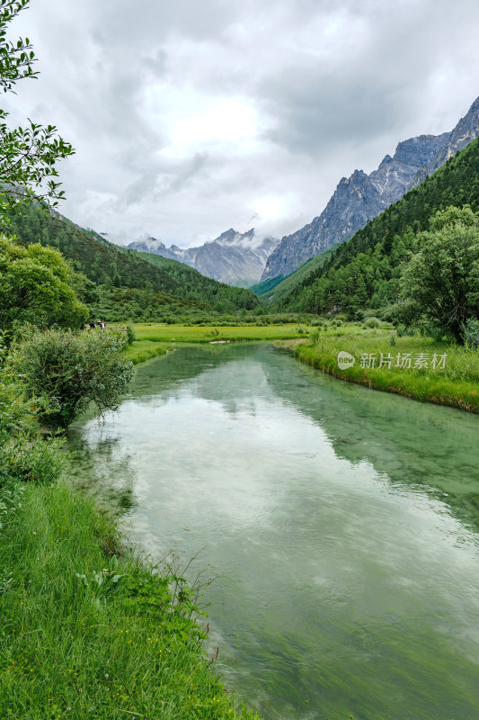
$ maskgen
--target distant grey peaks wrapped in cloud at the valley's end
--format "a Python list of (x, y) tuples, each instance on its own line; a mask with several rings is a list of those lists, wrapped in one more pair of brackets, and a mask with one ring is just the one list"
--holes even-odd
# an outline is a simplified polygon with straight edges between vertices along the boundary
[(136, 240), (128, 247), (179, 260), (221, 283), (245, 286), (261, 278), (266, 259), (277, 244), (273, 238), (258, 238), (253, 228), (244, 234), (230, 228), (200, 247), (166, 247), (155, 238)]

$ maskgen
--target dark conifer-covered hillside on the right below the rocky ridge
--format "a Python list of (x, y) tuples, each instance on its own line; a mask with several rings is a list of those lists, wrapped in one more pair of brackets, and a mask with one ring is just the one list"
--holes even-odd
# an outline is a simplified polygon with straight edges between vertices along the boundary
[(439, 209), (467, 204), (479, 210), (479, 140), (338, 246), (324, 266), (279, 298), (276, 308), (342, 311), (351, 318), (365, 309), (381, 311), (385, 317), (386, 309), (394, 313), (402, 263), (418, 233), (429, 228)]

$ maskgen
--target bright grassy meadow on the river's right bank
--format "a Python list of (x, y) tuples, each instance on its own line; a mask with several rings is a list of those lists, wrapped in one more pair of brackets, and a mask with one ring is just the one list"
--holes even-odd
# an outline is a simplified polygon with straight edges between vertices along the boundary
[[(395, 345), (390, 338), (395, 338)], [(355, 364), (341, 370), (337, 357), (340, 351), (355, 356)], [(387, 354), (393, 356), (391, 368), (361, 367), (361, 353), (375, 353), (376, 365)], [(397, 355), (410, 353), (411, 368), (395, 367)], [(415, 356), (428, 356), (427, 368), (414, 368)], [(447, 354), (444, 369), (431, 367), (434, 354)], [(308, 365), (333, 374), (350, 383), (368, 385), (386, 392), (397, 392), (416, 400), (450, 405), (470, 412), (479, 412), (479, 351), (446, 343), (436, 343), (430, 338), (398, 338), (390, 329), (361, 329), (360, 326), (344, 326), (326, 329), (312, 336), (312, 341), (297, 346), (295, 355)]]

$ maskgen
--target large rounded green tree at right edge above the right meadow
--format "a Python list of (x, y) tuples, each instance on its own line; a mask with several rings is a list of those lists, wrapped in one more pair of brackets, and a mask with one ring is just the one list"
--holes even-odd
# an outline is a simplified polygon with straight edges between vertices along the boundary
[(419, 235), (400, 282), (408, 317), (434, 323), (457, 342), (466, 320), (479, 316), (478, 226), (470, 208), (439, 211)]

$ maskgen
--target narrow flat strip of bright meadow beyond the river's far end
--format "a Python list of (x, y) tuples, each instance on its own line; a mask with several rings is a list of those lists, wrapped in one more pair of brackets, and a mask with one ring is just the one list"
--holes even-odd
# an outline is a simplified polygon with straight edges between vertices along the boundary
[(304, 338), (311, 329), (297, 323), (285, 325), (238, 325), (222, 327), (199, 325), (135, 325), (137, 340), (167, 343), (208, 343), (217, 340), (280, 340)]

